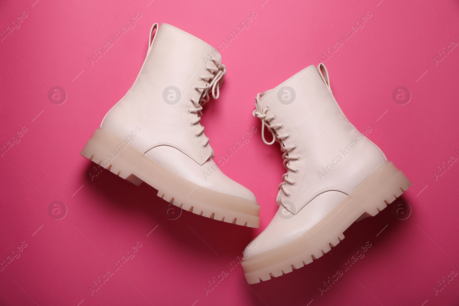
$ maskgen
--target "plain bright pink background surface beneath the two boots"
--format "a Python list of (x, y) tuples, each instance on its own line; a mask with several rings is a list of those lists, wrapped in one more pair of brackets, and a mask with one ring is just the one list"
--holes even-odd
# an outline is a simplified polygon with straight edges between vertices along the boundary
[[(35, 1), (0, 3), (2, 32), (27, 14), (0, 42), (0, 145), (27, 128), (0, 157), (0, 261), (27, 243), (0, 272), (1, 305), (458, 304), (459, 279), (438, 282), (459, 272), (459, 165), (437, 180), (433, 175), (459, 157), (459, 48), (437, 65), (433, 60), (459, 42), (457, 1)], [(252, 11), (250, 27), (228, 42), (225, 35)], [(91, 66), (88, 57), (136, 12), (142, 17), (135, 27)], [(247, 285), (241, 265), (232, 271), (228, 265), (273, 217), (285, 172), (279, 146), (261, 140), (254, 97), (319, 64), (322, 52), (366, 12), (364, 28), (325, 65), (347, 118), (360, 131), (371, 130), (369, 139), (413, 185), (376, 217), (354, 223), (331, 253)], [(228, 43), (221, 51), (227, 75), (220, 99), (205, 106), (202, 122), (216, 161), (257, 128), (221, 170), (255, 193), (260, 228), (186, 211), (170, 220), (166, 202), (146, 184), (136, 187), (106, 170), (91, 180), (95, 164), (79, 152), (134, 82), (154, 22), (214, 47)], [(67, 92), (62, 105), (48, 100), (53, 86)], [(397, 86), (411, 91), (408, 104), (392, 100)], [(61, 220), (48, 214), (55, 200), (67, 207)], [(135, 257), (91, 295), (93, 282), (138, 241)], [(364, 258), (344, 270), (367, 241)], [(321, 292), (339, 269), (343, 275)], [(229, 275), (206, 295), (223, 270)]]

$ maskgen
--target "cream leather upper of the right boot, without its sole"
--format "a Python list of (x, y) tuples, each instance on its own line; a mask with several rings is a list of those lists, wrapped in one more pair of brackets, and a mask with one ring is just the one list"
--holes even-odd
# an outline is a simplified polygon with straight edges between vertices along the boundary
[[(259, 102), (254, 115), (275, 127), (270, 130), (281, 148), (297, 144), (288, 151), (288, 167), (293, 170), (287, 169), (285, 179), (296, 183), (281, 184), (290, 196), (280, 189), (281, 205), (246, 248), (245, 259), (263, 256), (308, 232), (386, 161), (382, 151), (347, 121), (322, 64), (263, 93)], [(269, 110), (263, 112), (266, 106)]]

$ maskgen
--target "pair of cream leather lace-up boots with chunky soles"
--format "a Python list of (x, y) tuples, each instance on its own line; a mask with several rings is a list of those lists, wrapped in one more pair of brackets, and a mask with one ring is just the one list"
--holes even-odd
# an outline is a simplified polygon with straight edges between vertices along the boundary
[[(146, 182), (182, 209), (258, 228), (255, 196), (218, 169), (200, 124), (202, 106), (211, 95), (218, 99), (225, 73), (212, 46), (155, 23), (134, 85), (80, 154), (135, 185)], [(244, 251), (249, 284), (319, 258), (344, 239), (353, 222), (375, 216), (411, 185), (347, 121), (323, 64), (258, 94), (255, 106), (263, 142), (280, 143), (287, 172), (277, 213)], [(264, 138), (265, 128), (271, 140)]]

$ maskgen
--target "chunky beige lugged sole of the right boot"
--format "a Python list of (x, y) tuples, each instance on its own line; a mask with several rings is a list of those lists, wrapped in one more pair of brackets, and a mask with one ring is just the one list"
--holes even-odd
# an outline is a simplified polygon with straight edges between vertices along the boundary
[(344, 239), (343, 232), (359, 217), (375, 216), (409, 186), (409, 179), (392, 161), (384, 162), (308, 232), (274, 250), (245, 258), (241, 264), (247, 282), (259, 283), (311, 263)]

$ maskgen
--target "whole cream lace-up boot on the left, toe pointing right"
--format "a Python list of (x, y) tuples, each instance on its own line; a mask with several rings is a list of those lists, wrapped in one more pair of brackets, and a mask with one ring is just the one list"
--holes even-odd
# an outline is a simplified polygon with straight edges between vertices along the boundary
[(146, 182), (187, 211), (257, 228), (255, 196), (218, 169), (200, 124), (202, 106), (209, 95), (218, 98), (225, 73), (212, 46), (155, 23), (134, 85), (80, 154), (136, 185)]

